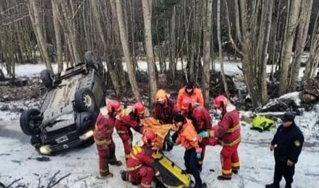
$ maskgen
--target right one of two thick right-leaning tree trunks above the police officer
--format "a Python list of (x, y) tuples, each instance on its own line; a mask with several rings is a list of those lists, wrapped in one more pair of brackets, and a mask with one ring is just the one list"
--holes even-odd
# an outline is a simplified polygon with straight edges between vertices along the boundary
[(298, 85), (298, 78), (299, 78), (299, 70), (301, 64), (301, 55), (304, 52), (304, 48), (306, 46), (306, 40), (308, 36), (308, 28), (310, 23), (311, 17), (311, 10), (313, 5), (313, 0), (303, 0), (302, 6), (300, 10), (300, 18), (298, 24), (298, 33), (297, 39), (295, 44), (295, 53), (292, 62), (291, 73), (289, 76), (289, 86), (288, 89), (290, 91), (295, 91)]

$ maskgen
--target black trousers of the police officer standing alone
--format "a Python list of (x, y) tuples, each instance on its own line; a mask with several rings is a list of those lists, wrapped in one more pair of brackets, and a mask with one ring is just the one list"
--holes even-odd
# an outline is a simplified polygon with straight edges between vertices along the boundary
[(279, 184), (282, 177), (286, 180), (286, 185), (293, 183), (293, 175), (295, 173), (295, 165), (287, 166), (287, 160), (275, 160), (274, 183)]

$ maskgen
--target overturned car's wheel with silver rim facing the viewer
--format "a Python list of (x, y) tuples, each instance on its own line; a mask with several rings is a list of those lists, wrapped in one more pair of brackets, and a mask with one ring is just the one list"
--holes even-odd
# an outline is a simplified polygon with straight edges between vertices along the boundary
[(74, 103), (78, 112), (93, 113), (96, 108), (94, 95), (87, 88), (82, 88), (75, 92)]

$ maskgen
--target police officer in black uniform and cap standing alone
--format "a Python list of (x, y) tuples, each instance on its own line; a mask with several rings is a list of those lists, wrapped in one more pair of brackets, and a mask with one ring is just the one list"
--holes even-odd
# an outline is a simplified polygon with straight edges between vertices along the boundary
[(282, 176), (286, 180), (285, 188), (291, 188), (295, 164), (298, 161), (304, 137), (294, 122), (295, 115), (286, 112), (282, 118), (282, 125), (277, 129), (271, 141), (270, 150), (274, 150), (275, 173), (274, 182), (266, 185), (266, 188), (279, 188)]

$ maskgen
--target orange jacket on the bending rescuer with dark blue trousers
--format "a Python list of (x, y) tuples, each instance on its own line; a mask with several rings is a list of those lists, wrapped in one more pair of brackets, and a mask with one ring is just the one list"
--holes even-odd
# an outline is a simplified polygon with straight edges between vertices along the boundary
[(202, 142), (202, 138), (197, 134), (191, 121), (187, 120), (178, 134), (176, 144), (182, 144), (186, 150), (195, 148), (196, 152), (200, 153), (202, 152), (199, 147), (200, 142)]

